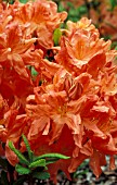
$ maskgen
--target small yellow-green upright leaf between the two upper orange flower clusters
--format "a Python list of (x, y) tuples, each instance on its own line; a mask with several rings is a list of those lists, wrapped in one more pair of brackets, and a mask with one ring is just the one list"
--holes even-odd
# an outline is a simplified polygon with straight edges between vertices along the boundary
[(62, 36), (61, 29), (60, 29), (60, 28), (56, 28), (56, 29), (54, 30), (54, 33), (53, 33), (53, 40), (54, 40), (54, 45), (55, 45), (55, 46), (58, 46), (61, 36)]

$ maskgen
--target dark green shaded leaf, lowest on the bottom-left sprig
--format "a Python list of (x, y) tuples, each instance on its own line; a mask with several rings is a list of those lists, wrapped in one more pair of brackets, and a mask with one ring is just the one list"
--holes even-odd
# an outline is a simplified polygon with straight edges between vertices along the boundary
[(32, 174), (32, 177), (38, 180), (47, 180), (50, 178), (50, 174), (48, 172), (35, 172)]

